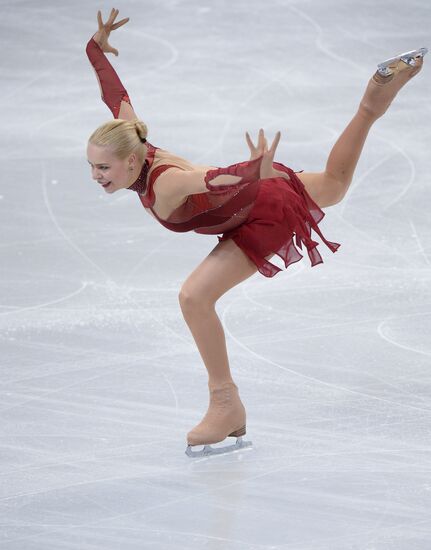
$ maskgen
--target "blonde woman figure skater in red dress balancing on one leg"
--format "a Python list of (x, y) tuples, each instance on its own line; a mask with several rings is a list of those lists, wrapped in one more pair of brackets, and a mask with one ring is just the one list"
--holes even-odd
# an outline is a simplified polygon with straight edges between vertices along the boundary
[[(102, 99), (115, 119), (97, 128), (88, 140), (92, 177), (107, 193), (135, 191), (147, 212), (171, 231), (221, 235), (179, 293), (182, 314), (208, 371), (209, 388), (208, 410), (187, 434), (186, 453), (202, 456), (249, 446), (251, 442), (242, 440), (246, 412), (232, 378), (215, 304), (256, 271), (265, 277), (281, 271), (270, 262), (274, 254), (287, 268), (303, 258), (296, 247), (302, 250), (304, 245), (311, 266), (322, 263), (312, 229), (332, 252), (338, 249), (340, 244), (326, 240), (318, 227), (325, 215), (321, 209), (338, 204), (346, 195), (371, 126), (421, 70), (427, 49), (400, 54), (378, 65), (324, 171), (298, 175), (274, 162), (280, 132), (268, 148), (263, 129), (256, 145), (245, 134), (250, 160), (218, 168), (193, 164), (147, 141), (147, 126), (139, 120), (104, 55), (118, 56), (108, 37), (129, 21), (127, 17), (114, 23), (118, 13), (112, 9), (103, 23), (98, 11), (99, 28), (86, 48)], [(227, 437), (236, 437), (236, 444), (225, 449), (211, 447)], [(192, 449), (196, 445), (204, 449)]]

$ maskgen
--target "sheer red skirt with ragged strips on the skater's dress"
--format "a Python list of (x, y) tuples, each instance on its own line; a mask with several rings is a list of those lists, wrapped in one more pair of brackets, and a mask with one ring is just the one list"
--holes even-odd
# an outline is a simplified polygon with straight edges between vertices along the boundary
[(274, 163), (274, 167), (286, 172), (290, 181), (282, 177), (261, 180), (246, 221), (217, 237), (219, 242), (232, 239), (265, 277), (273, 277), (281, 271), (267, 259), (268, 256), (276, 254), (287, 268), (303, 258), (296, 248), (302, 250), (303, 244), (312, 267), (323, 263), (317, 250), (319, 243), (311, 238), (311, 230), (332, 252), (341, 246), (322, 235), (318, 223), (325, 213), (312, 200), (295, 172), (281, 163)]

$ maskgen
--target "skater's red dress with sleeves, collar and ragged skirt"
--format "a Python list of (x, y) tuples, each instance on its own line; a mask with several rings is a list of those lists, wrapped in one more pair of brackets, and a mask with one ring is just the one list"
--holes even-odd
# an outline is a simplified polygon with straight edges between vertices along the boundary
[[(88, 42), (86, 52), (102, 88), (102, 99), (114, 118), (118, 118), (121, 101), (130, 103), (127, 91), (94, 39)], [(295, 245), (300, 250), (302, 244), (305, 245), (311, 266), (323, 262), (317, 250), (319, 243), (311, 238), (311, 230), (320, 236), (332, 252), (340, 246), (322, 235), (318, 223), (325, 213), (308, 195), (304, 184), (291, 168), (274, 162), (274, 168), (285, 172), (289, 180), (283, 177), (260, 179), (262, 157), (208, 170), (205, 175), (208, 191), (189, 195), (167, 220), (162, 220), (153, 210), (153, 186), (157, 177), (174, 165), (157, 166), (148, 178), (158, 148), (148, 141), (146, 144), (147, 158), (137, 180), (129, 189), (139, 194), (142, 204), (151, 209), (155, 218), (167, 229), (206, 235), (221, 234), (221, 237), (217, 237), (219, 242), (232, 239), (265, 277), (273, 277), (281, 271), (265, 259), (267, 256), (277, 254), (286, 268), (303, 258)], [(242, 179), (235, 184), (210, 183), (223, 174), (241, 176)]]

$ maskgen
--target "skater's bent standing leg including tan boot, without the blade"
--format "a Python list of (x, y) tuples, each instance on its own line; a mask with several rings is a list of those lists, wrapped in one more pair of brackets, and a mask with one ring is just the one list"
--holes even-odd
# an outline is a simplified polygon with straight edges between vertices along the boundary
[(246, 412), (232, 380), (215, 303), (256, 271), (255, 264), (228, 239), (218, 243), (181, 288), (181, 310), (207, 368), (210, 392), (205, 416), (187, 434), (189, 445), (215, 443), (229, 435), (239, 437), (246, 433)]

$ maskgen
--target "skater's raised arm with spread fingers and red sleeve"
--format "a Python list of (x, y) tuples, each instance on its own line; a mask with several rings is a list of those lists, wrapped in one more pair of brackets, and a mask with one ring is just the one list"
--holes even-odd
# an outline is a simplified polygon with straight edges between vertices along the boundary
[(111, 31), (121, 27), (129, 20), (126, 17), (118, 23), (114, 23), (118, 13), (118, 10), (112, 9), (108, 21), (104, 24), (100, 11), (97, 12), (99, 30), (88, 41), (86, 53), (96, 73), (102, 100), (109, 107), (114, 118), (134, 120), (138, 117), (133, 110), (127, 90), (104, 53), (110, 52), (118, 56), (118, 50), (109, 44), (108, 37)]

